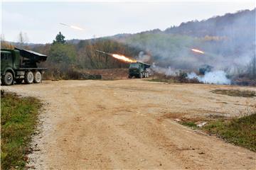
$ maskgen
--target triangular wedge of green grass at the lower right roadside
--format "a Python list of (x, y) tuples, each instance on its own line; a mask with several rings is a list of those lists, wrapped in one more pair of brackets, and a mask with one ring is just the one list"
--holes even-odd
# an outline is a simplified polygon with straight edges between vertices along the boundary
[(256, 113), (232, 120), (215, 120), (203, 130), (256, 152)]

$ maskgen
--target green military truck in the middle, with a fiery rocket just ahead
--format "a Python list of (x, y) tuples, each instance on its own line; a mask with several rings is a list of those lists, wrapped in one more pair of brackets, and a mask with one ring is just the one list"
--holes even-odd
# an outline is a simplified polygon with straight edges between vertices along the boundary
[(129, 78), (137, 77), (139, 79), (149, 77), (149, 72), (146, 70), (150, 67), (144, 62), (132, 62), (129, 65)]

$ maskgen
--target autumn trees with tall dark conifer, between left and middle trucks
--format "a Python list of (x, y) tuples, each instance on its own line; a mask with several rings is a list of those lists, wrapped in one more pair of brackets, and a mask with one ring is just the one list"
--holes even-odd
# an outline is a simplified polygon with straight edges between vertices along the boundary
[(95, 50), (134, 57), (140, 50), (107, 38), (80, 40), (78, 44), (69, 43), (62, 33), (56, 35), (51, 44), (38, 45), (31, 50), (48, 55), (48, 60), (41, 64), (47, 67), (49, 77), (72, 79), (69, 74), (85, 69), (128, 68), (129, 64), (120, 62)]

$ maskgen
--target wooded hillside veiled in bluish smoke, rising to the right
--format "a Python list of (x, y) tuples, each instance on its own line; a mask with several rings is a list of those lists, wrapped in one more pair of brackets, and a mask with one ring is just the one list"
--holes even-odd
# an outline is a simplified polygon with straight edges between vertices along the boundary
[[(112, 40), (149, 53), (162, 67), (181, 69), (212, 64), (218, 69), (248, 64), (255, 53), (255, 9), (189, 21), (164, 31), (115, 35)], [(205, 55), (191, 52), (203, 50)]]

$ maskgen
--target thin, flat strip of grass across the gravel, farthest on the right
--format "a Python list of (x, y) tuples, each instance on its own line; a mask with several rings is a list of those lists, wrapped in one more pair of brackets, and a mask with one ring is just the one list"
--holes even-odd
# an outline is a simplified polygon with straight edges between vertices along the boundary
[(251, 98), (256, 96), (255, 91), (240, 91), (235, 89), (231, 89), (231, 90), (215, 89), (211, 92), (215, 94), (224, 94), (228, 96), (239, 96), (239, 97), (246, 97), (246, 98)]

